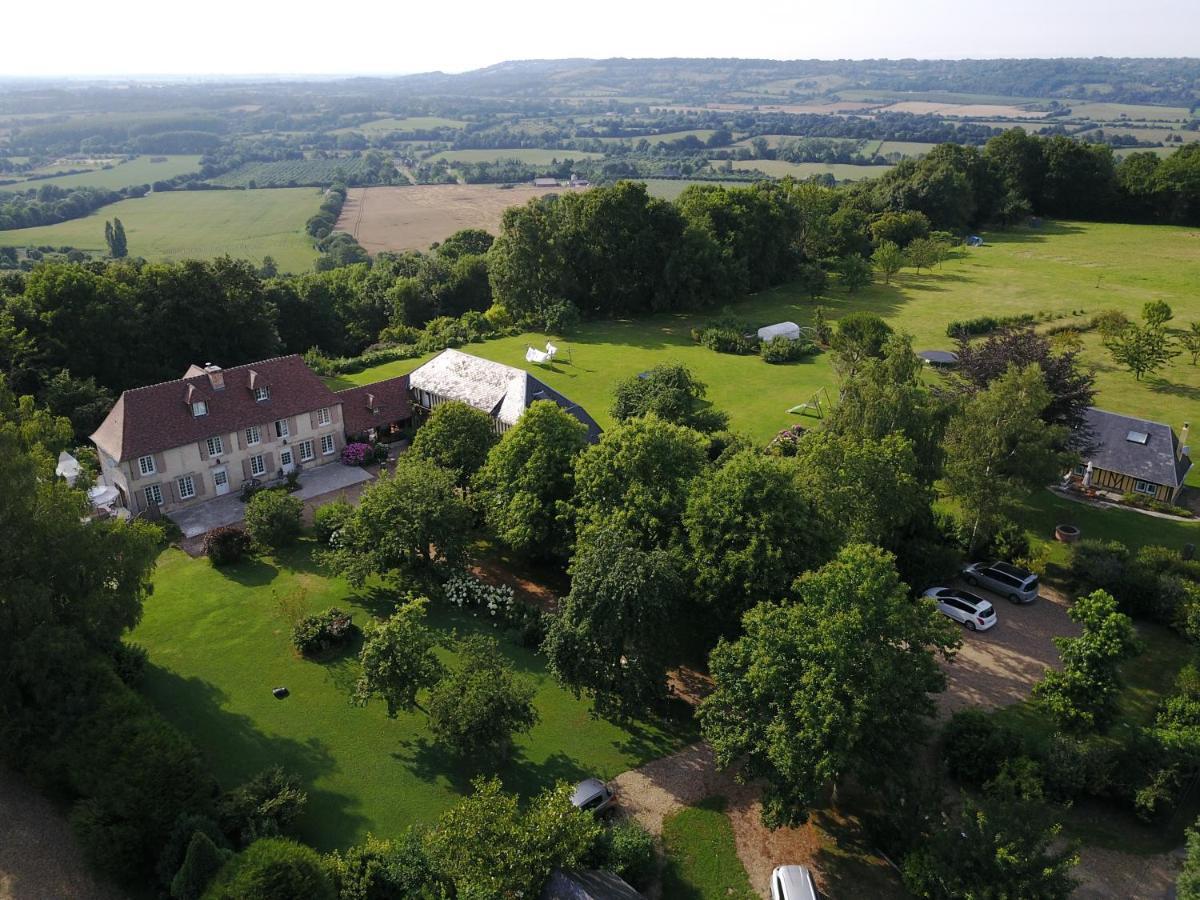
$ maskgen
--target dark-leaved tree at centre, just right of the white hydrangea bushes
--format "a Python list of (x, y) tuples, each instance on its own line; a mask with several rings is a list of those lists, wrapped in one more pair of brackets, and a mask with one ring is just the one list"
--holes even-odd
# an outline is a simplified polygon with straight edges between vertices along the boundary
[(583, 530), (571, 590), (542, 649), (554, 676), (601, 712), (629, 714), (666, 695), (667, 664), (686, 594), (679, 562), (643, 550), (619, 524)]

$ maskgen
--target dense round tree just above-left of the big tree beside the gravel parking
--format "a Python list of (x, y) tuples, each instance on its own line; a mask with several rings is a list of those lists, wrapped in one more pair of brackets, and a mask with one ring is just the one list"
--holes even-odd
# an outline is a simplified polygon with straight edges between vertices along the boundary
[(785, 460), (743, 450), (696, 482), (684, 514), (689, 568), (718, 628), (758, 600), (786, 596), (833, 551), (828, 522)]

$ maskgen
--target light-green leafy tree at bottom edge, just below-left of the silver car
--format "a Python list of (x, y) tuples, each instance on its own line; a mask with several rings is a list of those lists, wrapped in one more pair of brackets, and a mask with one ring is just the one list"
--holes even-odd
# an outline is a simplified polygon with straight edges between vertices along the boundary
[(559, 785), (526, 810), (498, 779), (478, 779), (473, 793), (442, 814), (426, 838), (433, 869), (464, 898), (539, 896), (554, 869), (577, 869), (600, 839), (594, 816), (571, 805)]

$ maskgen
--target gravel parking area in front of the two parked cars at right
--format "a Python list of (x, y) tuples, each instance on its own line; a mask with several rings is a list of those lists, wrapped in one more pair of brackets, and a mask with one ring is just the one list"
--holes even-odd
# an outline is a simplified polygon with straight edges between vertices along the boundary
[(1032, 604), (1018, 606), (982, 588), (955, 584), (978, 593), (996, 607), (996, 626), (972, 632), (962, 629), (962, 648), (953, 662), (943, 662), (946, 691), (938, 709), (949, 715), (966, 707), (994, 708), (1030, 696), (1048, 667), (1061, 662), (1054, 637), (1074, 637), (1080, 628), (1067, 616), (1067, 598), (1042, 588)]

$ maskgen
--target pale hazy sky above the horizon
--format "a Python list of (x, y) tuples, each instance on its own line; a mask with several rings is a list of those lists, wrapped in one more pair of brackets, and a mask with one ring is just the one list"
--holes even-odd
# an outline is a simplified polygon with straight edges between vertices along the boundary
[(1196, 0), (12, 0), (0, 74), (458, 72), (510, 59), (1183, 56)]

